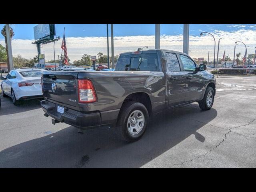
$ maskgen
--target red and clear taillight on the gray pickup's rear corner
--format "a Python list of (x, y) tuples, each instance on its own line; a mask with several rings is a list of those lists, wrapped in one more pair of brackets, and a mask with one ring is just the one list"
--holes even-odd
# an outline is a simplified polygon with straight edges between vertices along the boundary
[(78, 100), (80, 103), (91, 103), (97, 100), (92, 82), (88, 79), (78, 79)]

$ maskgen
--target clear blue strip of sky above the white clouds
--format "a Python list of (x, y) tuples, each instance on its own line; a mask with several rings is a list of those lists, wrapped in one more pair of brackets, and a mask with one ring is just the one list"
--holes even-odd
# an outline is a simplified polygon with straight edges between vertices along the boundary
[[(4, 24), (1, 24), (1, 28)], [(14, 38), (34, 39), (33, 28), (37, 24), (13, 24)], [(65, 29), (66, 37), (102, 37), (106, 36), (106, 24), (56, 24), (56, 35), (63, 36)], [(190, 24), (190, 34), (198, 36), (201, 31), (213, 32), (223, 30), (232, 32), (250, 29), (255, 24)], [(154, 24), (114, 24), (115, 36), (150, 36), (155, 33)], [(161, 24), (161, 35), (177, 35), (183, 33), (183, 24)], [(110, 34), (110, 25), (109, 25)], [(1, 38), (3, 36), (1, 35)]]

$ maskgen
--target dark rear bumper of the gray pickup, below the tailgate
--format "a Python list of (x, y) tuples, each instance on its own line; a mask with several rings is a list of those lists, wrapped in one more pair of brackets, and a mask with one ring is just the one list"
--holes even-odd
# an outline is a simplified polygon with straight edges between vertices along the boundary
[(65, 107), (64, 113), (57, 112), (58, 104), (41, 101), (43, 111), (50, 117), (59, 122), (78, 127), (78, 128), (94, 128), (101, 125), (100, 112), (81, 113)]

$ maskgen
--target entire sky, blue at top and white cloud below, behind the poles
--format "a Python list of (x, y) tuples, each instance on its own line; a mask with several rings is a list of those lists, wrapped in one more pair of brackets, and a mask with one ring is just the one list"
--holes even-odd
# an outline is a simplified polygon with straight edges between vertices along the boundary
[[(32, 58), (37, 55), (34, 42), (34, 26), (37, 24), (11, 24), (14, 29), (12, 39), (12, 52), (16, 56), (20, 54), (24, 58)], [(0, 29), (4, 24), (0, 24)], [(71, 62), (81, 58), (83, 54), (97, 55), (98, 52), (107, 54), (106, 24), (56, 24), (56, 35), (62, 38), (65, 27), (65, 36), (68, 49), (68, 57)], [(220, 41), (219, 56), (224, 50), (230, 57), (234, 54), (234, 42), (242, 41), (248, 48), (248, 54), (254, 54), (256, 46), (256, 24), (190, 24), (189, 52), (190, 56), (208, 58), (214, 57), (214, 40), (212, 36), (200, 32), (210, 32), (216, 39), (216, 52), (218, 39)], [(155, 24), (114, 24), (114, 54), (134, 51), (138, 48), (155, 45)], [(160, 48), (177, 50), (182, 52), (183, 24), (161, 24)], [(110, 24), (109, 24), (110, 36)], [(110, 40), (110, 39), (109, 39)], [(62, 39), (55, 43), (56, 55), (61, 54)], [(0, 44), (5, 46), (4, 37), (0, 34)], [(110, 43), (111, 48), (111, 43)], [(53, 43), (45, 44), (41, 48), (45, 52), (46, 60), (54, 58)], [(236, 46), (236, 52), (245, 53), (243, 44)]]

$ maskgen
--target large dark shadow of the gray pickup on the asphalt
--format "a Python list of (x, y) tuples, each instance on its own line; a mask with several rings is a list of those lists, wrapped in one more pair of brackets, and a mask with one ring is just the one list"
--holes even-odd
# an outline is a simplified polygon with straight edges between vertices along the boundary
[(119, 140), (113, 128), (86, 130), (70, 126), (56, 133), (23, 142), (0, 152), (0, 167), (140, 167), (213, 120), (217, 111), (201, 111), (198, 104), (174, 108), (151, 117), (144, 136), (134, 143)]

